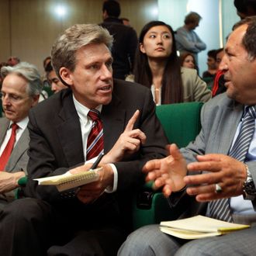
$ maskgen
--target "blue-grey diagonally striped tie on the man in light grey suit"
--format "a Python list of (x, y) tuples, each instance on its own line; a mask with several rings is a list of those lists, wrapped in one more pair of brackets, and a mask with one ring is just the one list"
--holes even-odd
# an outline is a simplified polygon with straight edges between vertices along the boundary
[[(252, 137), (255, 130), (255, 119), (256, 119), (256, 107), (247, 107), (247, 112), (241, 123), (240, 133), (237, 136), (237, 140), (234, 146), (231, 148), (229, 156), (236, 158), (238, 161), (244, 162), (247, 151), (251, 144)], [(209, 202), (210, 216), (228, 222), (233, 222), (229, 199), (219, 199)]]

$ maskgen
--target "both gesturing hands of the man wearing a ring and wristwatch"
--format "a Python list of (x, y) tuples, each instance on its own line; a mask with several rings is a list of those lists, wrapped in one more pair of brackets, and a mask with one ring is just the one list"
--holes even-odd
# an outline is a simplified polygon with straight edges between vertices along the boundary
[[(197, 162), (186, 164), (175, 144), (168, 150), (168, 157), (148, 161), (143, 169), (146, 180), (154, 181), (155, 188), (162, 187), (165, 196), (185, 186), (188, 186), (186, 192), (195, 195), (199, 202), (242, 194), (247, 177), (244, 163), (224, 154), (206, 154), (198, 155)], [(216, 184), (222, 188), (221, 193), (216, 193)]]

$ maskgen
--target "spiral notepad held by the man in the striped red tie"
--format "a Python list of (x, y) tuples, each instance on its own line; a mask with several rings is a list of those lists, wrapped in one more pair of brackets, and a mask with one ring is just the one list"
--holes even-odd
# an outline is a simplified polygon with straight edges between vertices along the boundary
[(98, 181), (99, 171), (101, 170), (102, 168), (97, 168), (90, 171), (81, 171), (74, 175), (67, 171), (64, 175), (35, 178), (34, 180), (38, 182), (38, 185), (56, 185), (58, 191), (61, 192)]

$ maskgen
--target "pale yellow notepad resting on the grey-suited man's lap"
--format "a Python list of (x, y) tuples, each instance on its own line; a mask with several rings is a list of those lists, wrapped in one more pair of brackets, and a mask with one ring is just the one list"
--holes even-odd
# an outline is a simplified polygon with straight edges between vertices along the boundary
[(201, 215), (160, 223), (162, 232), (182, 239), (215, 237), (248, 227), (250, 226), (228, 223)]

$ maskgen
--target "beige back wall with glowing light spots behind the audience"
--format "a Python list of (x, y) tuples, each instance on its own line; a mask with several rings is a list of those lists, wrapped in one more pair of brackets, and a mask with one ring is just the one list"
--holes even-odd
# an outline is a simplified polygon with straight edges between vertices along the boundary
[[(102, 22), (103, 0), (1, 0), (0, 62), (9, 56), (36, 64), (43, 73), (43, 58), (50, 55), (57, 36), (75, 23)], [(68, 6), (63, 19), (54, 14), (54, 6)], [(144, 24), (157, 19), (151, 9), (157, 0), (119, 0), (121, 16), (130, 19), (137, 34)]]

